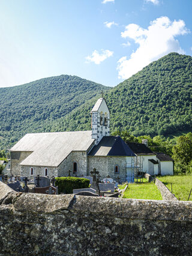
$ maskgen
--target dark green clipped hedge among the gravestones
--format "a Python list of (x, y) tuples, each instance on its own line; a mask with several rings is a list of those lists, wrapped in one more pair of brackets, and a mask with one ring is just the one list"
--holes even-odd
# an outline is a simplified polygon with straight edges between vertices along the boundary
[(58, 186), (59, 194), (73, 194), (73, 189), (84, 189), (89, 187), (88, 178), (76, 178), (76, 177), (57, 177), (56, 186)]

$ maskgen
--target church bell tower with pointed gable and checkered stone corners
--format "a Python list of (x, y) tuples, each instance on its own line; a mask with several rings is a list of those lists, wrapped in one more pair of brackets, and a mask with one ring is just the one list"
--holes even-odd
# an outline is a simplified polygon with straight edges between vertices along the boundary
[(95, 139), (95, 144), (103, 138), (110, 135), (110, 112), (106, 100), (100, 98), (95, 103), (91, 111), (91, 129), (92, 139)]

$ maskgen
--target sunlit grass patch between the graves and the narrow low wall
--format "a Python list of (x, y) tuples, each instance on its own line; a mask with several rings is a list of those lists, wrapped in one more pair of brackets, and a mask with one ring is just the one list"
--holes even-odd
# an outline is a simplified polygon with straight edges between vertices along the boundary
[(128, 184), (123, 198), (162, 200), (160, 190), (158, 190), (157, 186), (153, 182)]

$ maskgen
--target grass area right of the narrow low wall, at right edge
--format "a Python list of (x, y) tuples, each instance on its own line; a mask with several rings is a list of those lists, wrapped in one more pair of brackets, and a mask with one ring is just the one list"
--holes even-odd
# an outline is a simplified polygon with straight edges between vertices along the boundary
[[(192, 189), (192, 175), (174, 175), (158, 177), (170, 190), (178, 200), (187, 201), (190, 190)], [(172, 189), (171, 189), (172, 184)], [(190, 200), (192, 201), (192, 192)]]

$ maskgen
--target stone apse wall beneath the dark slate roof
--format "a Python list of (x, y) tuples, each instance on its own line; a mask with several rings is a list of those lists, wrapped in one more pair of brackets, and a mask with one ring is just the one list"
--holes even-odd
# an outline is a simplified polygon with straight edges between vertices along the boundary
[[(112, 156), (88, 156), (88, 169), (90, 172), (95, 168), (100, 172), (101, 179), (109, 175), (116, 180), (120, 178), (120, 182), (126, 181), (126, 157), (112, 157)], [(119, 173), (115, 173), (115, 165), (119, 166)]]

